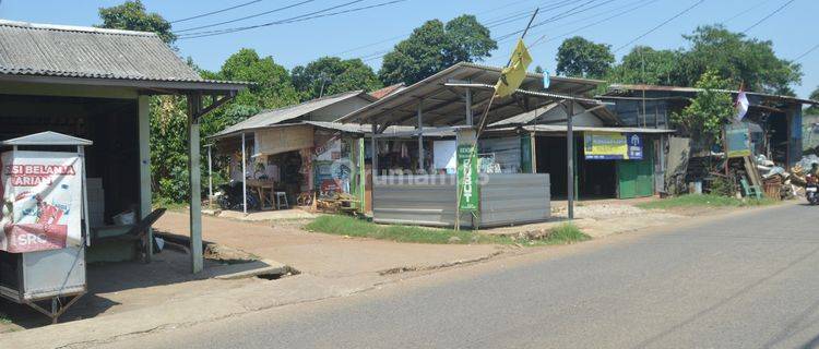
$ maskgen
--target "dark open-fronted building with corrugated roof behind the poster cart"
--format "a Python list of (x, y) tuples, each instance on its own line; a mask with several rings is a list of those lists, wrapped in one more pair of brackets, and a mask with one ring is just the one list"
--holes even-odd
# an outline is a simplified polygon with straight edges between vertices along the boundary
[[(192, 270), (203, 266), (199, 118), (233, 98), (242, 83), (206, 81), (153, 33), (0, 21), (0, 140), (51, 131), (93, 142), (85, 149), (90, 186), (88, 255), (134, 257), (136, 244), (95, 244), (114, 216), (152, 212), (150, 98), (188, 99)], [(150, 260), (153, 237), (142, 245)]]

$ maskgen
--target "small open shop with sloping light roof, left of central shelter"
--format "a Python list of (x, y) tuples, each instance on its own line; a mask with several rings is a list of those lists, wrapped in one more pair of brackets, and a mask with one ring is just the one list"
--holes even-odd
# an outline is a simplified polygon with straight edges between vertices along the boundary
[(335, 193), (351, 194), (366, 206), (369, 201), (361, 195), (363, 186), (368, 185), (361, 185), (366, 176), (361, 169), (367, 167), (365, 158), (371, 149), (361, 140), (370, 127), (333, 121), (402, 86), (369, 94), (346, 92), (264, 110), (215, 134), (212, 139), (217, 155), (227, 158), (229, 179), (247, 188), (242, 196), (248, 198), (229, 208), (278, 209), (293, 207), (313, 194), (322, 197)]

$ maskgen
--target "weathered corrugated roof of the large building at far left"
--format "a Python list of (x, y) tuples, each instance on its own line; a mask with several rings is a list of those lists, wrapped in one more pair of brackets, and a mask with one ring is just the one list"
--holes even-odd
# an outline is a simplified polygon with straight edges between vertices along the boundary
[(210, 82), (154, 33), (4, 20), (0, 74)]

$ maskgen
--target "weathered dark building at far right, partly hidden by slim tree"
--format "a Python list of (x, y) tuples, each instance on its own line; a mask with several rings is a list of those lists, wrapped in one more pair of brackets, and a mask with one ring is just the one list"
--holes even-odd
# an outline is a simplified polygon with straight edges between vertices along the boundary
[[(615, 84), (598, 98), (608, 104), (622, 127), (667, 130), (672, 129), (672, 116), (681, 113), (699, 92), (701, 89), (695, 87)], [(724, 92), (729, 93), (734, 100), (739, 94), (738, 91)], [(747, 134), (745, 143), (749, 153), (791, 169), (803, 158), (806, 142), (810, 141), (810, 134), (804, 134), (803, 130), (803, 107), (819, 101), (751, 92), (746, 96), (749, 109), (737, 125), (746, 130), (740, 131)], [(702, 182), (710, 177), (705, 164), (720, 158), (712, 154), (723, 152), (722, 147), (705, 148), (701, 139), (682, 130), (676, 130), (672, 137), (662, 139), (658, 145), (663, 149), (661, 155), (666, 157), (662, 169), (665, 189), (660, 192), (676, 192), (670, 186), (680, 183)], [(660, 178), (658, 174), (660, 171)]]

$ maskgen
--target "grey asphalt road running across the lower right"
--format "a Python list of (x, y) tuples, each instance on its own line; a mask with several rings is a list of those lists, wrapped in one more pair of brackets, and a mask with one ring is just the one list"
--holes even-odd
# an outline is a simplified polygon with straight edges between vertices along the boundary
[(819, 347), (818, 218), (787, 204), (108, 347)]

